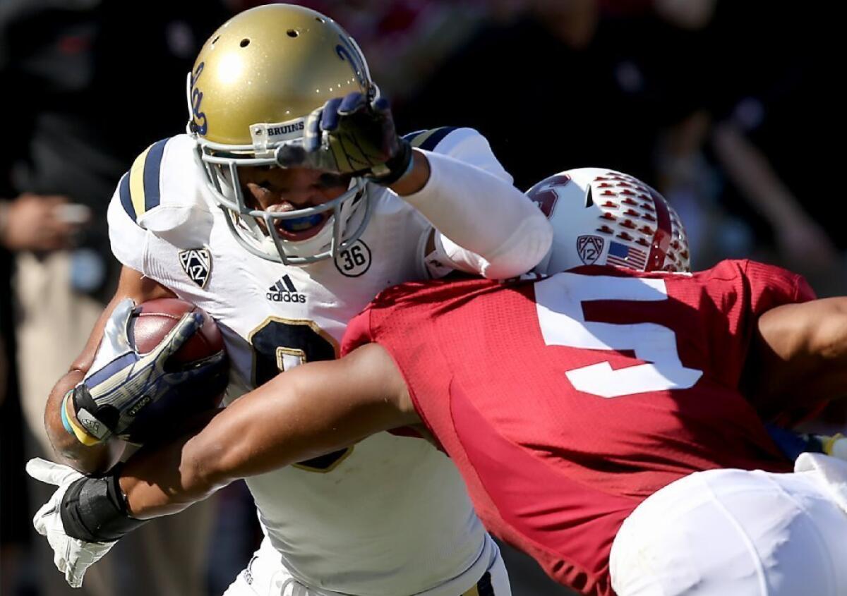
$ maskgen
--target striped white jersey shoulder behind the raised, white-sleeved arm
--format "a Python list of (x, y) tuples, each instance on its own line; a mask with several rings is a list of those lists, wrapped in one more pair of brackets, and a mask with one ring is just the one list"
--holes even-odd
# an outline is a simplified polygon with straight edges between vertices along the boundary
[(512, 175), (497, 161), (488, 139), (479, 134), (478, 130), (441, 126), (437, 129), (418, 130), (403, 135), (403, 139), (413, 147), (454, 157), (512, 184)]

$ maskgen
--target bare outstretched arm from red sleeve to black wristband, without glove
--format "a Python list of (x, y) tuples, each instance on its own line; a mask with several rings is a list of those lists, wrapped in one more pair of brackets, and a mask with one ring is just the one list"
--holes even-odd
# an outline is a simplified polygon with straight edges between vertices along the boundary
[(200, 433), (141, 450), (121, 471), (136, 519), (169, 515), (247, 476), (419, 422), (405, 381), (379, 345), (278, 375), (226, 407)]

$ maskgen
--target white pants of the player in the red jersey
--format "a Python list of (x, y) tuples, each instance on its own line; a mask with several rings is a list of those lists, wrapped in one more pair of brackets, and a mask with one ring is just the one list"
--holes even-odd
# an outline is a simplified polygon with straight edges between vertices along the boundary
[(610, 569), (618, 596), (844, 596), (847, 462), (681, 478), (623, 522)]

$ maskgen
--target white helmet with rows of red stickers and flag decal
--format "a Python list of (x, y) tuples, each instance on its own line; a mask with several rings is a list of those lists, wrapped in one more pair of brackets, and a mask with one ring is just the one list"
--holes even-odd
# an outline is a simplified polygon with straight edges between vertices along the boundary
[(677, 212), (633, 176), (605, 168), (569, 169), (541, 180), (526, 194), (553, 225), (553, 246), (534, 269), (537, 273), (580, 265), (691, 270)]

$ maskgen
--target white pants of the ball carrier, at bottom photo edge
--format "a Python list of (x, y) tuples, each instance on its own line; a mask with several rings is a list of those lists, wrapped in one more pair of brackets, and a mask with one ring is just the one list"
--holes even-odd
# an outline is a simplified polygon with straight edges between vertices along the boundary
[[(425, 564), (425, 563), (422, 563)], [(425, 592), (398, 593), (397, 596), (512, 596), (506, 566), (500, 549), (488, 534), (479, 559), (468, 571), (451, 577)], [(311, 588), (291, 577), (280, 554), (264, 538), (244, 571), (230, 584), (224, 596), (345, 596)]]

